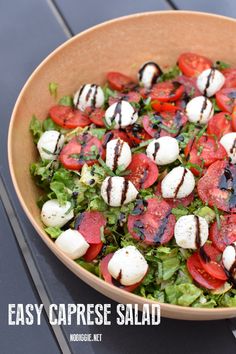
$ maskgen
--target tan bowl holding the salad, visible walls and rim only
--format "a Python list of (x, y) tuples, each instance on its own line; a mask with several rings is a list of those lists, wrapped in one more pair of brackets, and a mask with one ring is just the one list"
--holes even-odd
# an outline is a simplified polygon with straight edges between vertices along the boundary
[[(110, 21), (79, 34), (53, 52), (27, 81), (17, 100), (9, 130), (9, 163), (24, 210), (44, 242), (75, 274), (119, 302), (146, 301), (105, 284), (70, 261), (42, 230), (35, 203), (39, 190), (29, 175), (29, 164), (37, 159), (29, 133), (32, 114), (43, 120), (55, 103), (48, 91), (49, 82), (59, 84), (60, 97), (73, 93), (84, 83), (103, 84), (109, 70), (135, 77), (145, 61), (153, 60), (167, 67), (175, 64), (180, 53), (188, 51), (236, 66), (236, 46), (225, 44), (234, 43), (235, 36), (236, 21), (201, 13), (167, 11)], [(233, 317), (236, 309), (192, 309), (164, 304), (162, 315), (216, 319)]]

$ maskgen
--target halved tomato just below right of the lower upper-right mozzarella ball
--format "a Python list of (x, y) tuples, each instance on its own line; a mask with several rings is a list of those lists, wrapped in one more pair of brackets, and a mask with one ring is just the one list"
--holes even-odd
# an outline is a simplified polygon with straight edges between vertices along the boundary
[(232, 132), (231, 116), (227, 112), (215, 114), (208, 122), (207, 133), (220, 139), (223, 135)]

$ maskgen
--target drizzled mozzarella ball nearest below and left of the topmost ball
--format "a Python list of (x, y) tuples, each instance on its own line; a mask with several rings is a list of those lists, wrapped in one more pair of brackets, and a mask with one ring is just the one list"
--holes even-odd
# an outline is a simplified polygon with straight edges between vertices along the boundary
[(108, 125), (114, 124), (114, 129), (125, 128), (134, 124), (138, 119), (138, 113), (133, 106), (124, 100), (113, 103), (105, 112), (105, 120)]

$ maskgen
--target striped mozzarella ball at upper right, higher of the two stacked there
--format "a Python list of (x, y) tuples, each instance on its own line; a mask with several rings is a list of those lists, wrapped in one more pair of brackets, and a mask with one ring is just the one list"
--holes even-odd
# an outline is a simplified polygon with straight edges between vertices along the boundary
[(197, 87), (199, 91), (211, 97), (219, 91), (225, 83), (224, 75), (214, 68), (204, 70), (197, 78)]

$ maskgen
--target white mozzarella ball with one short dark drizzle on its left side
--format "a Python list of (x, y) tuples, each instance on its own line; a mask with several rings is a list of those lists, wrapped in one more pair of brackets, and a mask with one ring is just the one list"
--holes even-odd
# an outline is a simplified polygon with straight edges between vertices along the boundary
[(157, 165), (167, 165), (174, 162), (179, 156), (179, 144), (171, 136), (162, 136), (153, 139), (147, 146), (147, 156)]

